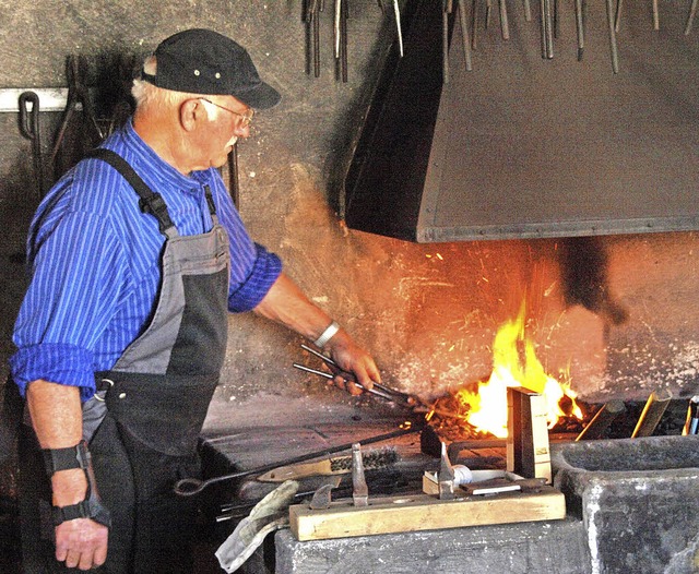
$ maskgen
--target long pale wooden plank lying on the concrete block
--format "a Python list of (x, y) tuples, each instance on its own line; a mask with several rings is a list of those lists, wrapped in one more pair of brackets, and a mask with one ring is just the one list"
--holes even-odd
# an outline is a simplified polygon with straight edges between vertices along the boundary
[(565, 498), (552, 487), (536, 493), (503, 492), (451, 501), (420, 493), (369, 499), (368, 506), (354, 506), (346, 499), (333, 502), (325, 510), (313, 511), (308, 504), (289, 509), (291, 529), (300, 541), (553, 521), (565, 516)]

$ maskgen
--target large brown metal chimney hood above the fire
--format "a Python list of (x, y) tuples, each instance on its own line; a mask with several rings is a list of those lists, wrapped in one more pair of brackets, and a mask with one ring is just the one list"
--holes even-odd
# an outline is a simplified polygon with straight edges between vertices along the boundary
[(578, 61), (572, 2), (543, 59), (537, 17), (508, 0), (510, 39), (494, 10), (472, 71), (452, 14), (445, 84), (442, 2), (408, 0), (404, 57), (387, 58), (345, 178), (347, 225), (417, 242), (698, 229), (699, 24), (686, 35), (688, 5), (659, 5), (654, 31), (650, 2), (624, 3), (616, 74), (604, 3), (587, 7)]

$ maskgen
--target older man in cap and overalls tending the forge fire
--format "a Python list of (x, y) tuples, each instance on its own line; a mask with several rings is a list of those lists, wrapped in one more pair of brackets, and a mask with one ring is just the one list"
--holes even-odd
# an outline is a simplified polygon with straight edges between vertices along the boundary
[(197, 471), (227, 311), (285, 324), (362, 385), (379, 382), (371, 357), (250, 240), (215, 169), (253, 109), (280, 100), (247, 51), (181, 32), (146, 60), (133, 95), (133, 118), (55, 186), (29, 230), (11, 358), (27, 406), (27, 572), (189, 570), (192, 509), (171, 489)]

